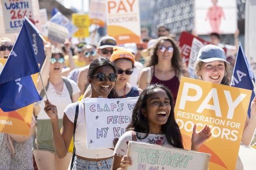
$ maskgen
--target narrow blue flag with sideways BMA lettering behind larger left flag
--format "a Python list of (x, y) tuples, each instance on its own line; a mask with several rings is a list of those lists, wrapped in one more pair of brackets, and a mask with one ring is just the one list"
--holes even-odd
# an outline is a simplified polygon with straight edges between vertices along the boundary
[(44, 43), (42, 38), (39, 36), (40, 31), (37, 29), (37, 27), (31, 23), (31, 21), (25, 17), (26, 20), (26, 26), (28, 28), (29, 36), (32, 40), (32, 46), (34, 48), (34, 52), (37, 58), (37, 62), (40, 64), (40, 69), (43, 66), (45, 54), (44, 54)]

